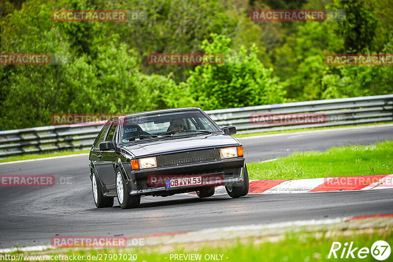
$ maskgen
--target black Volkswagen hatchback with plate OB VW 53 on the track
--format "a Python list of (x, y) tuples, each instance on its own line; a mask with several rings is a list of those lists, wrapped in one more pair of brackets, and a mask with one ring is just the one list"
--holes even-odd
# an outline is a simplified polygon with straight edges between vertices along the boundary
[(249, 179), (243, 147), (197, 107), (114, 117), (102, 128), (89, 155), (97, 208), (136, 208), (141, 196), (196, 191), (209, 197), (225, 185), (232, 198), (245, 196)]

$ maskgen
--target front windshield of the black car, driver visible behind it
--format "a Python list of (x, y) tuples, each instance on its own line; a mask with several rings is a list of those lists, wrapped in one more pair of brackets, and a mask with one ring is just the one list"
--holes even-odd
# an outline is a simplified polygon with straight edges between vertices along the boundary
[(121, 142), (200, 132), (221, 132), (221, 130), (198, 110), (148, 114), (124, 119)]

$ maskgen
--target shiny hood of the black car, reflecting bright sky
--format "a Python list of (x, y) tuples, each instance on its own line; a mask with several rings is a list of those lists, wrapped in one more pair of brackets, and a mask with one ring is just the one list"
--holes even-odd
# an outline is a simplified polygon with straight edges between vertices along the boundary
[(172, 139), (155, 140), (138, 144), (124, 145), (123, 150), (136, 157), (189, 151), (211, 147), (239, 145), (234, 137), (223, 134), (203, 134)]

